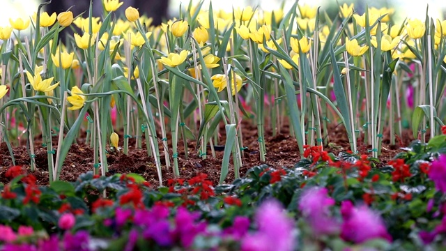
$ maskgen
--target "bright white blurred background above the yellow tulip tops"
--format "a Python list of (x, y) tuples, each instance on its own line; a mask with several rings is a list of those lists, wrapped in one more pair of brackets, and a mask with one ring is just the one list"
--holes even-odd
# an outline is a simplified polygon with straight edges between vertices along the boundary
[[(9, 24), (9, 18), (29, 17), (36, 12), (38, 3), (43, 0), (0, 0), (0, 26)], [(165, 17), (176, 17), (180, 4), (183, 8), (187, 8), (188, 0), (121, 0), (125, 6), (132, 5), (140, 9), (140, 12), (146, 12), (148, 15), (155, 16), (155, 23), (161, 22)], [(206, 0), (204, 6), (208, 6), (210, 0)], [(394, 8), (395, 14), (393, 16), (395, 23), (401, 23), (406, 17), (419, 18), (424, 20), (426, 15), (426, 7), (429, 5), (429, 16), (434, 19), (445, 20), (446, 1), (444, 0), (375, 0), (375, 1), (341, 1), (339, 3), (355, 3), (355, 10), (362, 14), (366, 4), (374, 7)], [(102, 0), (93, 0), (93, 5), (100, 5)], [(285, 9), (294, 3), (292, 0), (214, 0), (213, 8), (231, 11), (232, 7), (243, 6), (261, 6), (263, 9), (275, 9), (284, 3)], [(309, 4), (310, 6), (321, 6), (323, 10), (330, 13), (337, 13), (336, 0), (300, 0), (299, 4)], [(56, 11), (59, 13), (66, 10), (72, 5), (76, 5), (80, 9), (88, 8), (89, 0), (53, 0), (49, 11)], [(85, 7), (86, 6), (86, 7)], [(125, 6), (120, 10), (125, 10)], [(73, 11), (75, 15), (79, 15), (79, 10)], [(96, 13), (96, 15), (100, 15)], [(335, 14), (334, 14), (335, 15)]]

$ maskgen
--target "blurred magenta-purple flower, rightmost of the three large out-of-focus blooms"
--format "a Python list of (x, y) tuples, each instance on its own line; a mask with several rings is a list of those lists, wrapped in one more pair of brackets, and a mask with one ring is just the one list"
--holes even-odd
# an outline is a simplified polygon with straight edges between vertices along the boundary
[(367, 206), (353, 208), (349, 213), (346, 213), (341, 226), (341, 238), (354, 243), (363, 243), (375, 238), (392, 241), (380, 215), (371, 211)]

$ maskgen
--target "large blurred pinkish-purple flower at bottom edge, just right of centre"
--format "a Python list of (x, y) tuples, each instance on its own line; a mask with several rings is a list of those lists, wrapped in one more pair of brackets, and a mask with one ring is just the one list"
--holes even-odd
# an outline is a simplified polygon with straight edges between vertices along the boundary
[(289, 251), (295, 248), (294, 222), (279, 202), (263, 202), (256, 211), (255, 221), (259, 230), (243, 238), (243, 251)]

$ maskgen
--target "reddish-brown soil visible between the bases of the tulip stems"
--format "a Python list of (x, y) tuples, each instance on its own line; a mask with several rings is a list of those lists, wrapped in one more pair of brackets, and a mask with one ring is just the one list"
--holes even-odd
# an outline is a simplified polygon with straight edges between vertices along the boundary
[[(221, 130), (224, 132), (224, 130)], [(266, 164), (271, 167), (288, 167), (291, 168), (295, 165), (298, 160), (300, 160), (300, 153), (298, 151), (298, 144), (295, 139), (290, 137), (288, 126), (282, 128), (282, 133), (272, 137), (272, 131), (266, 130), (265, 142), (267, 148), (266, 154)], [(339, 151), (346, 151), (349, 149), (348, 138), (346, 136), (346, 131), (344, 126), (341, 125), (330, 125), (329, 129), (329, 142), (330, 146), (325, 146), (324, 150), (329, 151), (337, 155)], [(397, 145), (390, 145), (388, 130), (385, 131), (383, 136), (383, 150), (379, 157), (380, 164), (385, 165), (388, 160), (392, 159), (394, 155), (401, 152), (400, 147), (407, 146), (413, 140), (410, 131), (404, 131), (401, 141)], [(243, 167), (240, 168), (240, 176), (243, 176), (250, 167), (256, 165), (264, 164), (259, 161), (259, 143), (257, 142), (257, 130), (254, 126), (249, 123), (243, 122), (243, 140), (244, 146), (247, 146), (247, 150), (243, 154)], [(56, 148), (56, 137), (54, 140), (54, 148)], [(224, 145), (225, 135), (220, 138), (220, 142), (217, 145)], [(123, 145), (123, 137), (120, 135), (120, 146)], [(371, 146), (366, 146), (361, 144), (362, 139), (358, 142), (358, 151), (361, 154), (371, 155), (368, 151)], [(168, 141), (169, 146), (171, 145), (171, 140)], [(36, 139), (36, 167), (37, 170), (32, 172), (38, 179), (38, 184), (47, 185), (48, 172), (47, 172), (47, 151), (41, 146), (41, 139)], [(220, 180), (220, 169), (222, 165), (223, 151), (216, 151), (215, 158), (212, 158), (210, 149), (207, 152), (207, 158), (201, 159), (197, 156), (197, 151), (195, 149), (195, 142), (188, 142), (189, 158), (185, 159), (183, 142), (178, 144), (178, 166), (180, 168), (180, 178), (192, 178), (198, 173), (208, 174), (210, 181), (216, 185)], [(124, 155), (122, 151), (120, 153), (111, 152), (110, 149), (107, 154), (107, 162), (109, 164), (109, 174), (116, 173), (137, 173), (141, 174), (154, 186), (159, 185), (157, 172), (155, 167), (155, 162), (152, 157), (148, 157), (147, 151), (145, 150), (145, 142), (143, 142), (142, 149), (134, 148), (134, 139), (130, 139), (129, 144), (129, 155)], [(170, 155), (171, 148), (169, 147)], [(26, 151), (26, 147), (17, 147), (13, 149), (15, 156), (15, 164), (22, 165), (31, 172), (29, 169), (30, 158)], [(162, 178), (163, 183), (166, 185), (166, 181), (169, 178), (173, 178), (174, 175), (172, 170), (165, 167), (164, 155), (162, 153), (160, 144), (160, 154), (162, 162)], [(56, 155), (54, 155), (54, 158)], [(232, 163), (232, 160), (231, 160)], [(72, 145), (63, 169), (61, 172), (61, 180), (63, 181), (75, 181), (79, 174), (93, 170), (93, 151), (90, 146), (86, 146), (84, 142), (79, 141), (78, 144)], [(8, 179), (5, 177), (6, 169), (13, 165), (10, 158), (8, 148), (3, 142), (0, 146), (0, 181), (7, 183)], [(225, 183), (230, 183), (233, 181), (234, 173), (233, 166), (230, 165), (229, 174), (225, 180)]]

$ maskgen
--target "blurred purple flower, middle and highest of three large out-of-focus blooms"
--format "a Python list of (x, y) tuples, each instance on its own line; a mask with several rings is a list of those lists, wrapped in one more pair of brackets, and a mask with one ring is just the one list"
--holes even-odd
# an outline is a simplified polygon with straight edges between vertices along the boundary
[(326, 188), (311, 188), (306, 190), (299, 201), (302, 211), (314, 234), (333, 234), (338, 231), (339, 223), (330, 216), (330, 206), (334, 199), (328, 196)]

